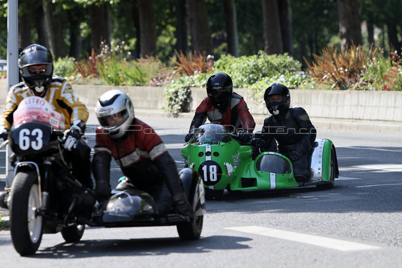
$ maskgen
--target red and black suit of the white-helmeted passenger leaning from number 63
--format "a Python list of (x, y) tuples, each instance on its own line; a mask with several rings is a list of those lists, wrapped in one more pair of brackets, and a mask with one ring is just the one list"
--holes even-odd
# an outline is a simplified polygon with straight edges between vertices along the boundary
[(157, 133), (143, 121), (134, 118), (132, 126), (120, 139), (112, 139), (96, 129), (92, 171), (96, 183), (110, 181), (110, 162), (116, 160), (128, 181), (117, 187), (134, 187), (149, 193), (158, 212), (172, 209), (172, 196), (182, 193), (177, 166)]

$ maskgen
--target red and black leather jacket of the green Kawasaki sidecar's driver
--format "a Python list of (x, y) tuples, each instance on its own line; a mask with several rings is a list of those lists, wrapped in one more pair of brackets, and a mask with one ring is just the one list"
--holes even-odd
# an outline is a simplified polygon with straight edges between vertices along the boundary
[(239, 128), (253, 132), (255, 127), (255, 121), (249, 112), (247, 103), (242, 96), (235, 92), (232, 93), (231, 101), (224, 112), (215, 108), (211, 100), (206, 97), (195, 109), (189, 133), (194, 132), (197, 127), (204, 124), (207, 118), (210, 122), (219, 122), (222, 125), (226, 125), (228, 130), (232, 132)]

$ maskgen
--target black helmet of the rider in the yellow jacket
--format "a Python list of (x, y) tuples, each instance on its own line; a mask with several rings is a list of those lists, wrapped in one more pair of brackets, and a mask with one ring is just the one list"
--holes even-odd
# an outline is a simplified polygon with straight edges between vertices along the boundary
[[(46, 65), (41, 72), (30, 73), (32, 65)], [(36, 96), (45, 95), (53, 75), (53, 56), (44, 46), (33, 44), (20, 53), (20, 75)]]

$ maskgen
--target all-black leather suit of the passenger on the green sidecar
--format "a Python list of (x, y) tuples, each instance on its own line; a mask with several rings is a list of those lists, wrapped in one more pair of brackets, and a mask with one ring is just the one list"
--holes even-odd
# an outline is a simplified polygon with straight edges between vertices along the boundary
[(261, 137), (266, 146), (275, 138), (280, 154), (292, 162), (293, 174), (302, 180), (310, 177), (310, 150), (316, 140), (316, 128), (302, 107), (289, 108), (284, 115), (264, 119)]

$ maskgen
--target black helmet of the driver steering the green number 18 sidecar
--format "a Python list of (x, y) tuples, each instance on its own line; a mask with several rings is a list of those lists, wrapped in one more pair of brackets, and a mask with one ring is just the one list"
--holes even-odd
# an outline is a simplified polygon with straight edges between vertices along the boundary
[(214, 73), (207, 81), (207, 94), (214, 105), (220, 111), (225, 111), (233, 92), (232, 78), (226, 73)]

